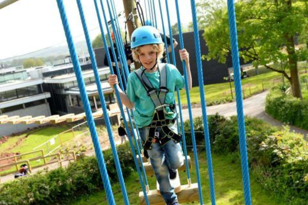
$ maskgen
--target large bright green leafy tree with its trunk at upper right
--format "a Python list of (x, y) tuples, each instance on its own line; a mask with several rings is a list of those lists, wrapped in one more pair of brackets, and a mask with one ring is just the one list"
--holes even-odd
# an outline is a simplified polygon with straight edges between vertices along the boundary
[[(198, 12), (209, 49), (205, 57), (225, 63), (230, 54), (226, 6), (222, 1), (209, 5), (202, 0)], [(292, 94), (297, 98), (302, 98), (297, 62), (308, 57), (307, 14), (305, 0), (241, 0), (236, 4), (240, 56), (245, 61), (252, 60), (254, 66), (263, 65), (281, 73), (290, 81)], [(296, 36), (304, 46), (296, 47)]]

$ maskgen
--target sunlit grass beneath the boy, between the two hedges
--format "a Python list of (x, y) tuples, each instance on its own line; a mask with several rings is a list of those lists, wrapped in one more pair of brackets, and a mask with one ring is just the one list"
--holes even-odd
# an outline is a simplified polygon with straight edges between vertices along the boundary
[[(192, 155), (192, 154), (191, 154)], [(190, 155), (190, 156), (191, 156)], [(231, 163), (230, 159), (225, 156), (212, 155), (213, 157), (213, 169), (215, 177), (215, 192), (216, 192), (216, 202), (222, 205), (237, 205), (244, 204), (243, 198), (243, 188), (242, 188), (242, 178), (241, 178), (241, 166), (240, 163)], [(204, 204), (211, 204), (209, 195), (209, 185), (208, 185), (208, 175), (207, 175), (207, 165), (205, 151), (199, 155), (199, 166), (203, 193)], [(192, 159), (192, 161), (194, 161)], [(197, 182), (196, 171), (191, 170), (192, 182)], [(180, 172), (181, 184), (187, 184), (187, 175), (185, 172)], [(156, 189), (156, 179), (155, 177), (148, 177), (150, 189)], [(126, 190), (128, 192), (128, 198), (130, 204), (139, 204), (139, 192), (142, 190), (139, 185), (138, 173), (134, 172), (127, 179), (125, 179)], [(138, 186), (137, 186), (138, 185)], [(119, 183), (113, 183), (112, 191), (116, 204), (124, 204), (123, 196)], [(251, 193), (252, 193), (252, 203), (255, 205), (282, 205), (286, 204), (280, 201), (279, 198), (275, 198), (270, 192), (262, 189), (258, 182), (251, 175)], [(181, 202), (181, 201), (180, 201)], [(104, 191), (93, 194), (89, 197), (80, 199), (79, 201), (72, 203), (70, 205), (96, 205), (96, 204), (107, 204), (106, 194)], [(199, 202), (194, 203), (181, 203), (181, 204), (194, 204), (198, 205)]]

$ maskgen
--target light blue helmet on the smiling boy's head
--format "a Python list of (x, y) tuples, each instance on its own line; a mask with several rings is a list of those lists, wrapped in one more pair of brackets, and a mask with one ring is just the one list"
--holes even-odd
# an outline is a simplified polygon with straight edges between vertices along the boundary
[(152, 26), (142, 26), (131, 34), (131, 48), (148, 44), (162, 44), (163, 40), (159, 31)]

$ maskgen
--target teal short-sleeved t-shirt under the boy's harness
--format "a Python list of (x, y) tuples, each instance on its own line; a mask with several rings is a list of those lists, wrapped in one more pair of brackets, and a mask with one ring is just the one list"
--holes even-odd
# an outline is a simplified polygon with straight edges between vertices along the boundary
[[(159, 64), (163, 66), (163, 64)], [(140, 68), (143, 69), (143, 68)], [(175, 89), (184, 87), (184, 77), (179, 70), (171, 64), (166, 64), (167, 72), (167, 88), (169, 92), (166, 94), (165, 104), (173, 104), (175, 100)], [(152, 86), (159, 89), (160, 86), (160, 73), (159, 71), (148, 73), (144, 72), (147, 78), (150, 80)], [(147, 95), (145, 88), (141, 84), (136, 73), (131, 72), (127, 79), (126, 94), (129, 100), (134, 103), (133, 118), (137, 127), (142, 128), (151, 123), (153, 114), (155, 112), (155, 106), (151, 98)], [(176, 113), (172, 112), (169, 107), (166, 107), (165, 117), (167, 119), (173, 119), (176, 117)]]

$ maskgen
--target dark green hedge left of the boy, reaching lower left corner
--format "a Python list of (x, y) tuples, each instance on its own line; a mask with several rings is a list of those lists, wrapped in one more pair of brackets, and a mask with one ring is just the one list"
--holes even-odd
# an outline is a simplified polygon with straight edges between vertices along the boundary
[[(125, 178), (134, 168), (131, 150), (128, 144), (117, 148)], [(111, 150), (104, 151), (104, 158), (110, 181), (117, 181), (118, 175)], [(5, 183), (0, 187), (0, 204), (69, 204), (76, 198), (91, 195), (102, 189), (97, 159), (84, 157), (71, 163), (67, 169), (59, 168)]]

